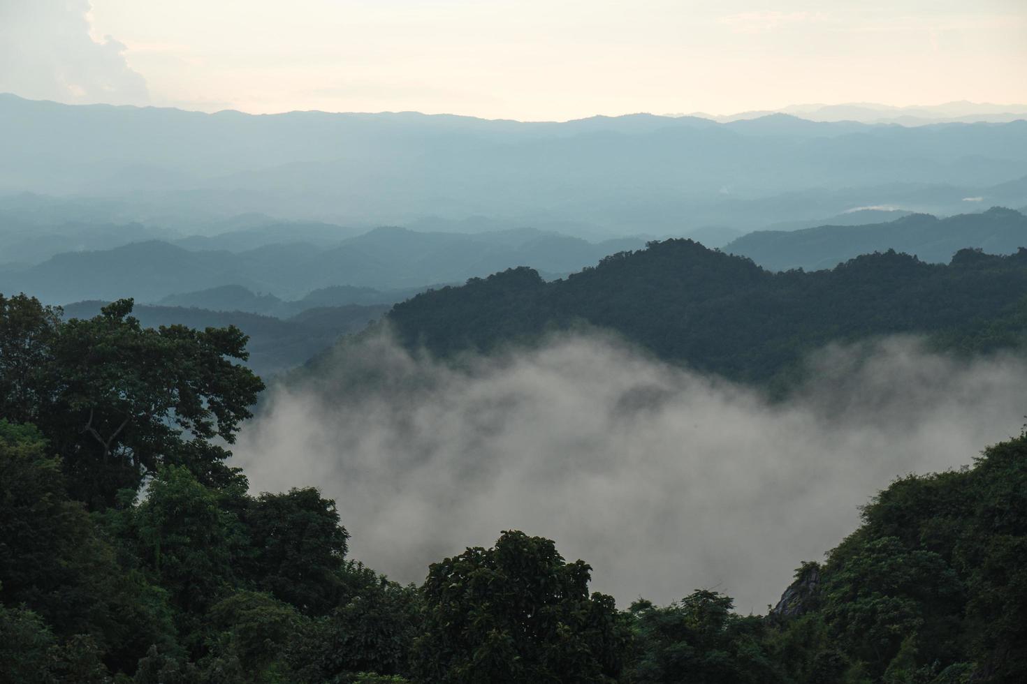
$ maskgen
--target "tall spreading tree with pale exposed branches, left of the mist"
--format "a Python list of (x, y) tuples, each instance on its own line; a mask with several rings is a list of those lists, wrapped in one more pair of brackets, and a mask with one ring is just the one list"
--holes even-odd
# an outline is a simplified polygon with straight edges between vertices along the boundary
[[(111, 506), (118, 489), (138, 487), (162, 462), (194, 465), (199, 477), (221, 466), (220, 437), (235, 439), (263, 389), (232, 362), (245, 360), (238, 328), (144, 328), (131, 299), (89, 320), (60, 327), (52, 345), (59, 414), (43, 424), (72, 477), (72, 493), (92, 507)], [(213, 462), (212, 462), (213, 461)]]

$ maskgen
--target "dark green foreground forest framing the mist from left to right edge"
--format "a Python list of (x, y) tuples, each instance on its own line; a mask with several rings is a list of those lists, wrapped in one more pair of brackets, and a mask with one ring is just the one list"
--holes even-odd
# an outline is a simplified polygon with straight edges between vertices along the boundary
[[(643, 254), (660, 248), (732, 259), (687, 242)], [(581, 277), (631, 273), (633, 258)], [(899, 261), (907, 279), (980, 284), (975, 265), (1016, 279), (1016, 259), (867, 260), (882, 274)], [(732, 279), (772, 278), (728, 263)], [(511, 272), (467, 291), (514, 278), (540, 287)], [(965, 298), (956, 304), (971, 306)], [(496, 530), (491, 548), (440, 559), (422, 584), (402, 586), (348, 557), (345, 521), (316, 488), (255, 495), (226, 462), (263, 388), (239, 363), (245, 336), (233, 326), (147, 328), (132, 306), (65, 319), (34, 297), (0, 297), (0, 681), (1027, 677), (1027, 435), (873, 495), (862, 525), (823, 562), (796, 559), (794, 584), (764, 615), (735, 613), (729, 588), (682, 587), (660, 606), (640, 587), (618, 609), (589, 592), (584, 560), (517, 530)]]

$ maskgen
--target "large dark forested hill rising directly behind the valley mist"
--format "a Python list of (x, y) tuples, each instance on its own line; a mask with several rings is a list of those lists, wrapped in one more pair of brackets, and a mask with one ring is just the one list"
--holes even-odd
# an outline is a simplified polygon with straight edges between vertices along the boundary
[(448, 356), (531, 341), (584, 323), (658, 357), (740, 380), (767, 380), (834, 340), (927, 333), (945, 347), (1020, 345), (1027, 330), (1027, 249), (959, 251), (931, 265), (887, 251), (832, 271), (772, 273), (691, 240), (650, 243), (544, 282), (511, 269), (445, 287), (389, 313), (401, 340)]

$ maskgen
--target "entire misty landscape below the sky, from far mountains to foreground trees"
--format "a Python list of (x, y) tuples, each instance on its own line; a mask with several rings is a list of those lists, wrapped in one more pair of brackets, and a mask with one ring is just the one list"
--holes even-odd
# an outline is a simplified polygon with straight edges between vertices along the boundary
[(0, 683), (1027, 681), (1027, 121), (867, 108), (0, 93)]

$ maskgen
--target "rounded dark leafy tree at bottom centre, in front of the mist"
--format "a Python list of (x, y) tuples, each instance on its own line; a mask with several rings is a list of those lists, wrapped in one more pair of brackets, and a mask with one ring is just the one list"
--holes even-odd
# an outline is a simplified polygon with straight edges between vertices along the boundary
[(588, 595), (591, 570), (519, 531), (433, 563), (413, 673), (453, 683), (614, 681), (627, 626), (611, 597)]

